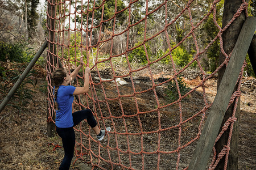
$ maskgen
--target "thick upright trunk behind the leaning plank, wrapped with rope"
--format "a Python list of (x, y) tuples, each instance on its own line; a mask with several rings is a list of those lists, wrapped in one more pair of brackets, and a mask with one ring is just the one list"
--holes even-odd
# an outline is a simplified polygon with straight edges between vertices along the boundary
[[(240, 7), (241, 3), (242, 3), (241, 0), (225, 0), (223, 18), (222, 18), (222, 27), (225, 27), (225, 25), (233, 18), (233, 15), (236, 14), (237, 9)], [(226, 29), (225, 32), (223, 32), (222, 34), (223, 48), (227, 54), (232, 52), (244, 22), (245, 22), (245, 12), (243, 11), (241, 15), (238, 16), (238, 18), (234, 20), (234, 22), (229, 26), (229, 28)], [(225, 56), (220, 52), (219, 64), (224, 62), (224, 60), (225, 60)], [(218, 72), (217, 89), (220, 86), (220, 82), (225, 73), (225, 70), (226, 70), (226, 66), (222, 67)], [(237, 89), (237, 85), (234, 88), (234, 91), (236, 91), (236, 89)], [(230, 105), (230, 107), (226, 111), (221, 127), (224, 125), (226, 120), (228, 120), (228, 118), (232, 116), (233, 109), (234, 109), (234, 103)], [(228, 167), (227, 167), (227, 169), (232, 169), (232, 170), (238, 169), (238, 124), (240, 120), (240, 99), (238, 100), (238, 104), (237, 104), (236, 118), (237, 118), (237, 121), (234, 122), (233, 134), (230, 142), (230, 151), (229, 151)], [(216, 143), (215, 146), (216, 146), (217, 154), (220, 153), (224, 145), (226, 145), (229, 137), (229, 130), (230, 128), (228, 128), (228, 130), (226, 130), (224, 134), (222, 134), (222, 137)], [(224, 164), (225, 164), (225, 156), (220, 160), (216, 169), (224, 169)]]

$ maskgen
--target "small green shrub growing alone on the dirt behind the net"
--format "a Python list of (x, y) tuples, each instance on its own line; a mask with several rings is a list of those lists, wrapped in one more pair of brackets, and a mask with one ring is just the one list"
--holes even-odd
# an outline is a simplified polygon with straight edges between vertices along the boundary
[[(189, 92), (188, 85), (185, 84), (180, 77), (177, 78), (177, 83), (179, 84), (181, 96), (184, 96), (185, 94), (187, 94), (187, 92)], [(169, 102), (174, 102), (179, 99), (179, 93), (177, 91), (175, 80), (171, 80), (169, 82), (168, 88), (166, 89), (166, 98)]]

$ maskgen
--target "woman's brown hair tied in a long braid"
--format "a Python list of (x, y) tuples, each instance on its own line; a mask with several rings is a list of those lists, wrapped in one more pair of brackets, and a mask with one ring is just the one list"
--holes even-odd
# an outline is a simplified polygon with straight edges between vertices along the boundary
[(55, 86), (54, 97), (55, 97), (55, 109), (57, 108), (57, 91), (60, 85), (63, 83), (65, 76), (67, 76), (67, 71), (63, 67), (59, 67), (53, 71), (53, 83)]

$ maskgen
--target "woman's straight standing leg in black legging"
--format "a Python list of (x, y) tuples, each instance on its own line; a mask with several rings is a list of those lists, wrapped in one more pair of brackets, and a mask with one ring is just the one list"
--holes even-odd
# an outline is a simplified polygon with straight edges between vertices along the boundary
[(64, 148), (64, 158), (62, 163), (60, 164), (59, 169), (69, 169), (71, 165), (71, 161), (74, 155), (74, 148), (75, 148), (75, 131), (73, 127), (71, 128), (57, 128), (56, 127), (57, 134), (62, 139), (62, 144)]

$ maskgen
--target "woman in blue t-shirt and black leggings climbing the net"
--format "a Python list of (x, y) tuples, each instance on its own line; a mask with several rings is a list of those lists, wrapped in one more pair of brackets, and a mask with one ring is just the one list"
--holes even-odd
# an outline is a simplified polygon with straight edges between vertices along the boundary
[(71, 165), (76, 140), (73, 127), (78, 125), (82, 120), (87, 120), (90, 127), (97, 134), (98, 141), (104, 138), (106, 131), (110, 131), (110, 127), (106, 128), (106, 130), (100, 130), (100, 128), (98, 128), (97, 122), (90, 109), (72, 113), (73, 95), (81, 95), (89, 91), (89, 67), (85, 69), (84, 87), (69, 86), (69, 83), (75, 79), (79, 70), (84, 65), (83, 57), (84, 56), (80, 57), (80, 65), (70, 75), (63, 67), (59, 67), (53, 72), (56, 109), (55, 125), (57, 134), (59, 134), (62, 139), (65, 153), (59, 169), (69, 169)]

